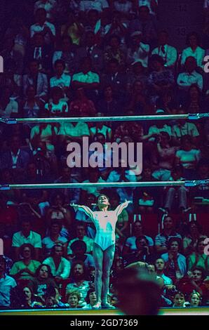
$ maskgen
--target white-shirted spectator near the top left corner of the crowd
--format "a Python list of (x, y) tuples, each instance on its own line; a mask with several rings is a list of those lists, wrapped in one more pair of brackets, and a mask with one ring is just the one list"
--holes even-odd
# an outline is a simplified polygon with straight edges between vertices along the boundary
[(46, 11), (39, 8), (35, 14), (36, 23), (30, 27), (30, 37), (34, 37), (37, 32), (43, 34), (46, 44), (53, 44), (55, 40), (55, 25), (46, 20)]

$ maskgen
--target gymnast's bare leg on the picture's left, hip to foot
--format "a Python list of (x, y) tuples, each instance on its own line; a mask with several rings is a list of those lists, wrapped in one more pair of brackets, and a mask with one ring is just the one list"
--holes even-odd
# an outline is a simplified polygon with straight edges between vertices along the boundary
[(93, 258), (95, 261), (95, 293), (97, 296), (97, 303), (95, 307), (100, 308), (102, 296), (102, 263), (103, 263), (103, 250), (96, 243), (93, 244)]

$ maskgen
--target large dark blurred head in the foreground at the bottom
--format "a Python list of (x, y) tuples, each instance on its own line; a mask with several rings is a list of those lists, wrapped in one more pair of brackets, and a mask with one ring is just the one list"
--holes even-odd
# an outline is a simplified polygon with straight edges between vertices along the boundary
[(153, 276), (143, 269), (126, 268), (116, 284), (119, 308), (126, 315), (157, 315), (161, 288)]

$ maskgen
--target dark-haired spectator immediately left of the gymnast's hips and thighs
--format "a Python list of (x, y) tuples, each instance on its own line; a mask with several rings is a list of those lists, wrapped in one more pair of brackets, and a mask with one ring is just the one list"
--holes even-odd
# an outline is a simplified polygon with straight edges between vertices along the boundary
[(72, 255), (73, 258), (70, 258), (71, 263), (78, 262), (79, 260), (83, 261), (86, 270), (91, 270), (92, 268), (95, 268), (95, 262), (93, 260), (93, 256), (91, 256), (89, 253), (86, 253), (86, 243), (84, 241), (81, 241), (80, 239), (77, 241), (74, 241), (70, 249), (72, 249)]

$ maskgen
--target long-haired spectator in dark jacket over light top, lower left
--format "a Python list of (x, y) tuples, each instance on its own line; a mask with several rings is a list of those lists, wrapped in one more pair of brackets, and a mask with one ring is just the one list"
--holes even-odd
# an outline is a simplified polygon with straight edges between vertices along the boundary
[(32, 287), (34, 294), (39, 296), (43, 302), (47, 289), (50, 288), (50, 286), (53, 286), (53, 288), (57, 287), (55, 280), (52, 278), (50, 266), (44, 265), (43, 263), (36, 270), (36, 277), (29, 281), (28, 285)]

